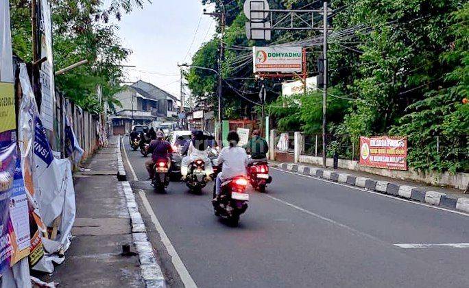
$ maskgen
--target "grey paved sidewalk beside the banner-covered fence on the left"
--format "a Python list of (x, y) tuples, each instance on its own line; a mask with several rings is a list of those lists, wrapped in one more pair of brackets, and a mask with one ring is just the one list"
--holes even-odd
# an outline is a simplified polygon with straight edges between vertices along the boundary
[(117, 144), (112, 137), (73, 174), (77, 217), (65, 261), (51, 275), (41, 276), (59, 287), (145, 287), (139, 256), (121, 256), (122, 245), (132, 248), (130, 217), (123, 185), (117, 180)]

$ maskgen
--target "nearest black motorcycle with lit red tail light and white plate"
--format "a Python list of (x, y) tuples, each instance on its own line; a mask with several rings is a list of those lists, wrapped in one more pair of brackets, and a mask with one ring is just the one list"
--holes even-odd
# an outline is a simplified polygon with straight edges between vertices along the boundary
[[(248, 209), (249, 194), (245, 191), (248, 180), (243, 176), (226, 180), (221, 184), (218, 200), (213, 201), (215, 216), (227, 219), (232, 226), (237, 226), (239, 216)], [(213, 185), (215, 197), (215, 185)]]

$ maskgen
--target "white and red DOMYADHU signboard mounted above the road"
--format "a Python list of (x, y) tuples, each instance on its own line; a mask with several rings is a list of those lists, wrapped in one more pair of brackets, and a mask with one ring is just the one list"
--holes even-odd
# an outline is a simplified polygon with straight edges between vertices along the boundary
[(254, 73), (302, 71), (301, 47), (252, 47)]

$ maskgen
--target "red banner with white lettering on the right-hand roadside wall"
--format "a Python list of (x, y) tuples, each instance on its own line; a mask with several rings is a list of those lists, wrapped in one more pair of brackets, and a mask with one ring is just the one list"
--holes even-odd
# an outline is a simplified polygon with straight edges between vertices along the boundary
[(360, 165), (393, 170), (407, 170), (407, 138), (360, 136)]

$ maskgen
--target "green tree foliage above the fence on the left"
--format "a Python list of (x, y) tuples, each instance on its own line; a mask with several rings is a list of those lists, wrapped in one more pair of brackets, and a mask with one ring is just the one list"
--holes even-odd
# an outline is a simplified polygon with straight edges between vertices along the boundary
[[(112, 95), (122, 80), (121, 64), (130, 54), (121, 46), (116, 25), (110, 19), (132, 7), (142, 7), (143, 0), (112, 0), (108, 6), (96, 0), (52, 0), (53, 53), (56, 71), (80, 60), (88, 64), (56, 77), (56, 86), (66, 97), (90, 112), (102, 110), (97, 100), (101, 86), (103, 100), (112, 108), (119, 105)], [(31, 1), (12, 0), (12, 43), (14, 53), (24, 61), (32, 60)]]

